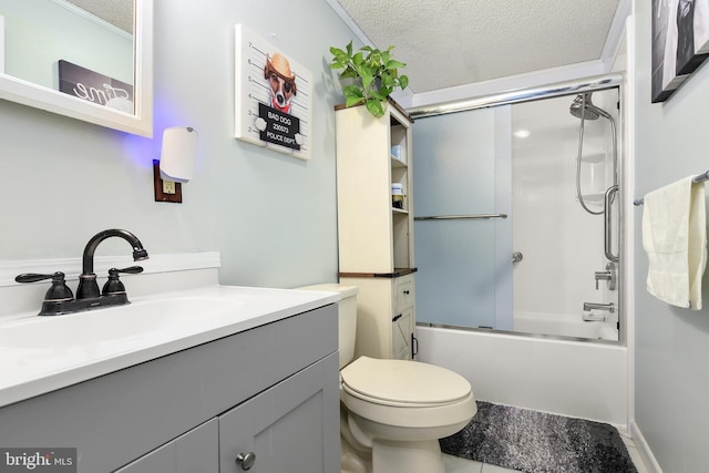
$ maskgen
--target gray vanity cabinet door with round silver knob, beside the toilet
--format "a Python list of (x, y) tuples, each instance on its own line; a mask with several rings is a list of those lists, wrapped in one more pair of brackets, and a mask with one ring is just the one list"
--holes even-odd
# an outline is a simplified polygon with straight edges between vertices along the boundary
[[(222, 415), (220, 473), (339, 472), (338, 357), (330, 354)], [(253, 466), (237, 461), (239, 455), (254, 455)]]

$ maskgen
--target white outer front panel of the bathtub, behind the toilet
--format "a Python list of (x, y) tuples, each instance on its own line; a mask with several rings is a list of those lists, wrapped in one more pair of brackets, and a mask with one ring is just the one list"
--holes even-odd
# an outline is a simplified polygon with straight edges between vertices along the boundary
[(475, 399), (628, 424), (627, 348), (489, 329), (417, 327), (418, 360), (451, 369)]

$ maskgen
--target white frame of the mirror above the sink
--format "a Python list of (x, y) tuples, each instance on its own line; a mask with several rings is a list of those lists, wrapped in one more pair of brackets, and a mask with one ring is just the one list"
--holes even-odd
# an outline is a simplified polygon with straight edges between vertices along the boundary
[(0, 74), (0, 99), (45, 110), (96, 125), (142, 136), (153, 136), (153, 0), (134, 0), (134, 113), (127, 114), (93, 102)]

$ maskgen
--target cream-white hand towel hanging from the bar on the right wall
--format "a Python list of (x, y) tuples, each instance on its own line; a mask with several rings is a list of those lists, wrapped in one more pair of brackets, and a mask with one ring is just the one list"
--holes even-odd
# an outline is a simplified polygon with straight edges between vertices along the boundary
[(686, 177), (645, 196), (643, 248), (647, 290), (672, 306), (701, 309), (707, 266), (705, 186)]

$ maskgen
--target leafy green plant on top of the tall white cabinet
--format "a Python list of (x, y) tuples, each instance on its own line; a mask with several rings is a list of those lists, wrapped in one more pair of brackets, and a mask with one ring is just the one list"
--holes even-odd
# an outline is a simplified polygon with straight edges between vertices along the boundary
[(409, 78), (399, 74), (399, 69), (407, 66), (403, 62), (392, 59), (389, 47), (384, 51), (363, 47), (359, 51), (352, 50), (352, 41), (345, 50), (331, 47), (332, 61), (330, 69), (342, 69), (340, 80), (347, 85), (342, 89), (345, 106), (364, 104), (369, 113), (374, 116), (384, 114), (382, 102), (397, 89), (405, 89)]

